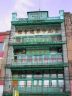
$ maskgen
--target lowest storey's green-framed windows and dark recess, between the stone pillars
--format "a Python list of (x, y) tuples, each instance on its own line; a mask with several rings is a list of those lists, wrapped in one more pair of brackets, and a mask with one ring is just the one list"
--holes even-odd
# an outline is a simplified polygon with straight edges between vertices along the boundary
[[(12, 74), (12, 86), (25, 88), (62, 88), (65, 87), (64, 70), (44, 70), (44, 71), (17, 71)], [(29, 89), (28, 89), (29, 90)], [(57, 90), (57, 89), (56, 89)]]

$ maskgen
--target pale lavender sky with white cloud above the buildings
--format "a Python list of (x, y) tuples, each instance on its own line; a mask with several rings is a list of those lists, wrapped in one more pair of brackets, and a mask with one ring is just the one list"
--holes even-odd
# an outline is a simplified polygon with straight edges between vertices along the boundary
[(12, 12), (26, 17), (27, 11), (49, 11), (49, 16), (59, 15), (59, 10), (72, 13), (72, 0), (0, 0), (0, 32), (11, 28)]

